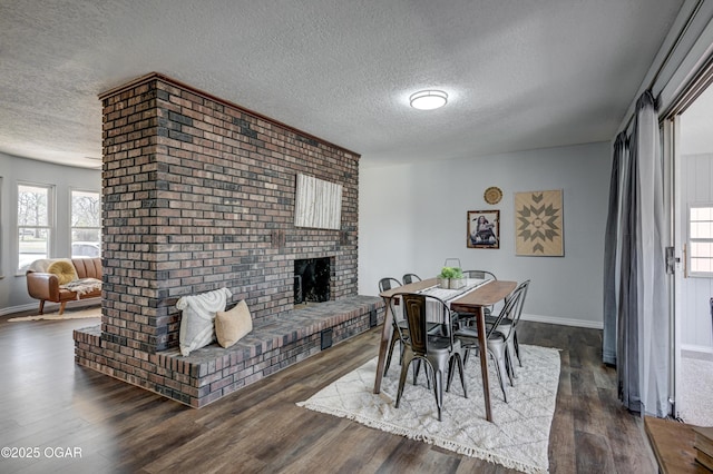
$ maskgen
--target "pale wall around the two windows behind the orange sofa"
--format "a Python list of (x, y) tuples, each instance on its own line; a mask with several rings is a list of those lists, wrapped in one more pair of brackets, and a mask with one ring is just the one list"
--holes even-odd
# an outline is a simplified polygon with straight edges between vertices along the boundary
[[(0, 154), (0, 315), (39, 307), (27, 294), (25, 274), (17, 274), (17, 191), (18, 182), (55, 186), (56, 216), (53, 257), (69, 256), (70, 189), (101, 189), (101, 171), (52, 165)], [(47, 306), (51, 307), (50, 304)]]

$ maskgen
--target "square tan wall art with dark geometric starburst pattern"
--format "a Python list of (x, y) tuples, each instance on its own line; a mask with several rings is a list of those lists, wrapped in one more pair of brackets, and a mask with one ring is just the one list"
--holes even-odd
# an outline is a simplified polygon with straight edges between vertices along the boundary
[(515, 192), (515, 254), (565, 255), (561, 190)]

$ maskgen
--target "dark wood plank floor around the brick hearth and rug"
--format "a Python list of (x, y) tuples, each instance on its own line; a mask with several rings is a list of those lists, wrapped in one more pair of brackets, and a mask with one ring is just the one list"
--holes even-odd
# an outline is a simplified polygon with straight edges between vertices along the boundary
[[(295, 405), (373, 357), (377, 329), (193, 409), (76, 366), (71, 330), (97, 319), (8, 317), (0, 317), (0, 447), (38, 447), (40, 456), (0, 458), (2, 473), (510, 472)], [(641, 419), (622, 408), (616, 373), (600, 363), (600, 337), (522, 324), (521, 343), (561, 348), (550, 472), (655, 473)], [(81, 458), (56, 456), (67, 448)]]

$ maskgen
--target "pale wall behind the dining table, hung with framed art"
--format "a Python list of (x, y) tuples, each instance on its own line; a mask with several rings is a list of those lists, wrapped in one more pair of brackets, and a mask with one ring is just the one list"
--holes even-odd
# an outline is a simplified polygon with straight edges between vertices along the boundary
[[(381, 277), (433, 277), (446, 258), (500, 279), (531, 279), (524, 318), (602, 327), (609, 142), (360, 170), (359, 293)], [(490, 186), (502, 189), (495, 206)], [(514, 194), (563, 189), (564, 257), (515, 255)], [(468, 210), (500, 210), (500, 248), (466, 246)]]

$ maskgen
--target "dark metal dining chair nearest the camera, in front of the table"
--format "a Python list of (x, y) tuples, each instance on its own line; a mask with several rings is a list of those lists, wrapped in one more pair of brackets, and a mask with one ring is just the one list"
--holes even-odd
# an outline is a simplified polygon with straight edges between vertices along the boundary
[[(460, 375), (460, 383), (463, 388), (463, 396), (468, 397), (466, 388), (466, 377), (463, 374), (463, 359), (460, 342), (453, 337), (452, 313), (448, 305), (434, 296), (427, 296), (418, 293), (400, 293), (394, 295), (401, 299), (403, 305), (404, 319), (409, 330), (408, 337), (403, 340), (403, 362), (401, 364), (401, 375), (399, 377), (399, 389), (397, 392), (395, 407), (399, 407), (403, 387), (412, 362), (422, 362), (426, 366), (429, 385), (433, 386), (436, 405), (438, 407), (438, 421), (441, 421), (443, 409), (443, 383), (448, 379), (446, 391), (450, 388), (450, 382), (456, 368)], [(436, 320), (440, 326), (439, 334), (429, 330), (430, 323), (427, 319), (427, 308), (431, 310), (431, 320)], [(413, 384), (418, 378), (418, 365), (413, 371)]]

